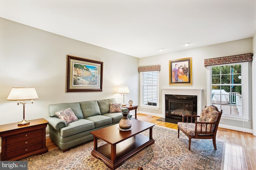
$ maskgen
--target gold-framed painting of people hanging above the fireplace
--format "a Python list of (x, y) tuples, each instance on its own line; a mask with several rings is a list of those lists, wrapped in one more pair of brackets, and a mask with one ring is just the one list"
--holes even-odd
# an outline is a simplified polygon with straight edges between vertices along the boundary
[(192, 58), (169, 61), (170, 85), (192, 84)]

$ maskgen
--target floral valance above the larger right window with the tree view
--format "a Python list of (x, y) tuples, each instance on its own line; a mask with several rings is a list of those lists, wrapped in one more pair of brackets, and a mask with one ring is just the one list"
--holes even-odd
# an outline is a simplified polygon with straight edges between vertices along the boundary
[(241, 55), (232, 55), (227, 57), (218, 57), (213, 59), (204, 59), (204, 66), (248, 62), (252, 61), (252, 56), (252, 53), (248, 53)]

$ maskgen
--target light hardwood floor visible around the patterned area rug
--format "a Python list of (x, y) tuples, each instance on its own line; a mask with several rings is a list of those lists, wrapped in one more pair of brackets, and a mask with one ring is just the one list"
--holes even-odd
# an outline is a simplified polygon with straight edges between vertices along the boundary
[[(176, 124), (157, 121), (160, 117), (138, 113), (137, 118), (159, 126), (178, 129)], [(218, 128), (216, 140), (226, 143), (224, 170), (256, 170), (256, 136), (250, 133)], [(193, 139), (191, 145), (193, 145)], [(50, 150), (57, 146), (50, 139), (47, 139), (46, 147)]]

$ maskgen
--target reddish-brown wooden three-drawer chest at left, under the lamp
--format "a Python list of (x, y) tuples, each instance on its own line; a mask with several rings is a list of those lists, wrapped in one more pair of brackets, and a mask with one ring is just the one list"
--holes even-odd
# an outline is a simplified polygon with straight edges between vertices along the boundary
[(20, 160), (33, 154), (48, 152), (45, 129), (49, 122), (45, 119), (30, 120), (29, 125), (18, 123), (0, 125), (2, 151), (0, 160)]

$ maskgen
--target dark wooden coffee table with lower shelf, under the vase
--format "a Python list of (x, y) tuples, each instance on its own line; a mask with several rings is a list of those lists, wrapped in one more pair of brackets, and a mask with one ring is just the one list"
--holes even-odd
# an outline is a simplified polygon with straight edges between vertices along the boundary
[[(155, 143), (152, 138), (152, 128), (155, 124), (136, 119), (132, 122), (132, 130), (120, 131), (119, 124), (92, 131), (94, 149), (92, 156), (100, 158), (110, 169), (118, 168), (124, 160), (140, 151), (146, 146)], [(140, 134), (149, 129), (149, 137)], [(98, 139), (106, 141), (105, 145), (98, 147)]]

